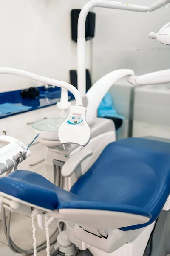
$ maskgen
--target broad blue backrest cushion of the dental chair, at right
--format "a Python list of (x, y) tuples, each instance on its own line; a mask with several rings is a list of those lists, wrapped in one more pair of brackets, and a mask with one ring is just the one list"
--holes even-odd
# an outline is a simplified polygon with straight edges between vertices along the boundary
[(149, 223), (122, 230), (145, 227), (170, 194), (170, 143), (143, 138), (110, 143), (71, 192), (86, 200), (140, 207), (152, 215)]

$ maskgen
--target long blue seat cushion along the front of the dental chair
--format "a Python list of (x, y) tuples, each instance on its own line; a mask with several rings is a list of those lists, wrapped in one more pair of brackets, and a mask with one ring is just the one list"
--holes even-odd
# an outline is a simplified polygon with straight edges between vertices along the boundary
[(140, 207), (86, 201), (84, 197), (61, 189), (41, 175), (18, 170), (0, 179), (0, 191), (30, 204), (48, 209), (96, 209), (127, 212), (151, 218), (151, 214)]

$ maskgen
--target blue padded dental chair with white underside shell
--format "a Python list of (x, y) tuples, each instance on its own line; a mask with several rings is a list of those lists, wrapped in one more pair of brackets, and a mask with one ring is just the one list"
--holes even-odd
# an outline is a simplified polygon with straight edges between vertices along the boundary
[(156, 221), (170, 195), (170, 144), (144, 138), (110, 143), (70, 192), (35, 172), (11, 172), (0, 179), (0, 195), (59, 212), (88, 233), (134, 232)]

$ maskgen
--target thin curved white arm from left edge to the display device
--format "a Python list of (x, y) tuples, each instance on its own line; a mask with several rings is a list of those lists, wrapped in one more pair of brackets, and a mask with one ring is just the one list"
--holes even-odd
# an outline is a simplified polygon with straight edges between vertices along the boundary
[(71, 93), (73, 93), (73, 95), (76, 99), (76, 105), (82, 106), (82, 97), (80, 96), (79, 91), (73, 85), (68, 84), (66, 82), (47, 78), (44, 76), (39, 76), (39, 75), (30, 73), (27, 71), (18, 70), (18, 69), (14, 69), (14, 68), (7, 68), (7, 67), (0, 67), (0, 74), (11, 74), (11, 75), (15, 75), (15, 76), (22, 76), (22, 77), (26, 77), (28, 79), (39, 81), (39, 82), (42, 82), (45, 84), (51, 84), (56, 87), (65, 88), (65, 89), (71, 91)]

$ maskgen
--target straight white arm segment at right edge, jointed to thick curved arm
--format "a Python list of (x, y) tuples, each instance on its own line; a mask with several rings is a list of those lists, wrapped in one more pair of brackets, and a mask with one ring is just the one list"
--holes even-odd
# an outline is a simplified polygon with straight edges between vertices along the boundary
[(129, 76), (127, 80), (135, 85), (170, 83), (170, 69), (147, 73), (142, 76)]

